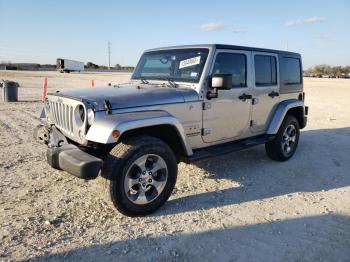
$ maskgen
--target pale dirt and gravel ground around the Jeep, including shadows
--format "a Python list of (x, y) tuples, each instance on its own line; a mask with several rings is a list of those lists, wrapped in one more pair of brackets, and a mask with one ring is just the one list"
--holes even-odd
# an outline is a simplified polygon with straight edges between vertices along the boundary
[(126, 82), (123, 74), (5, 72), (22, 102), (0, 102), (0, 261), (349, 261), (350, 80), (305, 79), (309, 123), (285, 163), (259, 146), (180, 164), (155, 214), (122, 216), (102, 179), (51, 169), (32, 138), (49, 91)]

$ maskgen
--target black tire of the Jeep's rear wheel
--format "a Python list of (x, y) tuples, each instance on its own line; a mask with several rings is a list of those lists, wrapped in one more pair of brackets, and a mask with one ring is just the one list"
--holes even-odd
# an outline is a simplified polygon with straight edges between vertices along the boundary
[[(290, 130), (292, 130), (293, 132), (290, 132)], [(292, 138), (290, 139), (288, 138), (288, 141), (289, 140), (290, 141), (286, 142), (287, 139), (285, 136), (285, 132), (294, 133), (294, 137), (295, 137), (294, 142), (290, 140)], [(300, 128), (299, 128), (298, 120), (293, 115), (286, 115), (276, 134), (276, 137), (272, 141), (269, 141), (265, 144), (265, 150), (267, 155), (272, 160), (281, 161), (281, 162), (290, 159), (294, 155), (295, 150), (298, 147), (299, 137), (300, 137)], [(290, 146), (286, 145), (286, 143), (287, 144), (290, 143)], [(290, 148), (289, 151), (287, 150), (288, 147)]]

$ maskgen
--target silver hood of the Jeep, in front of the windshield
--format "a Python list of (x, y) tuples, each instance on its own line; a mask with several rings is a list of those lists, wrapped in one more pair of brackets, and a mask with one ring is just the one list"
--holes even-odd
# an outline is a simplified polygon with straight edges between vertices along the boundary
[(198, 94), (193, 89), (152, 87), (137, 85), (106, 86), (96, 88), (74, 89), (52, 95), (83, 100), (93, 104), (96, 110), (104, 110), (104, 101), (108, 100), (112, 109), (141, 107), (151, 105), (184, 103), (197, 101)]

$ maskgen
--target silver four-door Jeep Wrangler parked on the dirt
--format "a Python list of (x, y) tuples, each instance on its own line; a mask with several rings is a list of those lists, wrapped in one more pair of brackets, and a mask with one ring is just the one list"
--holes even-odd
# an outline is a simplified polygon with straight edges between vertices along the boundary
[(291, 158), (306, 125), (301, 56), (231, 45), (146, 51), (130, 83), (47, 95), (37, 140), (48, 163), (83, 179), (99, 174), (125, 215), (169, 198), (177, 163), (265, 144)]

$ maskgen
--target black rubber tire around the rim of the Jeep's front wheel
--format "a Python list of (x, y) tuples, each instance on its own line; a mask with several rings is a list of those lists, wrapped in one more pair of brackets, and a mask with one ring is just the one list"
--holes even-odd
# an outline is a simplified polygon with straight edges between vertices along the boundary
[[(154, 200), (147, 204), (136, 204), (130, 199), (130, 192), (126, 192), (125, 190), (125, 183), (127, 183), (126, 179), (129, 179), (127, 181), (130, 181), (129, 174), (132, 173), (131, 170), (133, 170), (134, 166), (136, 166), (137, 168), (139, 167), (135, 164), (135, 161), (144, 156), (146, 156), (147, 159), (149, 155), (156, 155), (160, 157), (162, 159), (162, 163), (166, 164), (167, 178), (165, 182), (162, 182), (163, 189), (161, 193), (158, 193), (157, 190), (155, 191), (158, 193), (158, 195)], [(143, 176), (143, 172), (142, 174), (141, 172), (142, 171), (139, 172), (139, 170), (133, 172), (139, 175), (138, 178), (133, 179), (140, 179), (141, 176)], [(171, 192), (173, 191), (174, 186), (176, 184), (177, 161), (173, 151), (162, 140), (150, 136), (132, 137), (130, 139), (127, 139), (126, 141), (117, 144), (111, 150), (108, 157), (105, 159), (104, 166), (102, 169), (102, 176), (106, 178), (105, 185), (107, 186), (106, 189), (109, 191), (110, 199), (112, 200), (114, 206), (122, 214), (132, 217), (144, 216), (157, 210), (170, 197)], [(140, 182), (139, 185), (136, 186), (141, 187), (142, 183)], [(150, 188), (153, 190), (151, 185), (147, 185), (147, 187), (148, 191), (146, 191), (146, 187), (143, 187), (143, 192), (149, 192)]]

